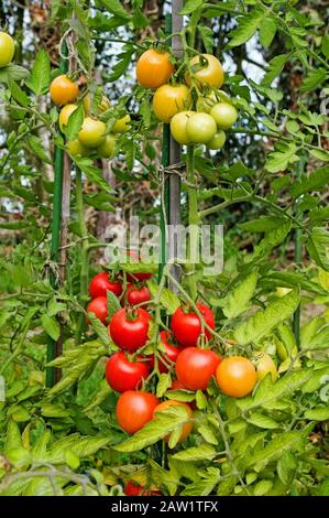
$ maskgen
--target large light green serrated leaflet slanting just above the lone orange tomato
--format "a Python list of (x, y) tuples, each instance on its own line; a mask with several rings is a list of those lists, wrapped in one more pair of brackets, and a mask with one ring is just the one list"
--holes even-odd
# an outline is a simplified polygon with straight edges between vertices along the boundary
[(266, 336), (277, 324), (288, 319), (299, 304), (298, 290), (270, 302), (265, 310), (259, 311), (242, 322), (234, 332), (234, 338), (240, 345), (246, 345)]

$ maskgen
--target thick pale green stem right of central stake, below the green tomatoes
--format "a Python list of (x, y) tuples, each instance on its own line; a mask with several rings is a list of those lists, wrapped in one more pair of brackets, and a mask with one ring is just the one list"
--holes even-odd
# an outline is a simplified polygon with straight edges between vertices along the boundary
[[(189, 183), (195, 182), (195, 160), (194, 160), (195, 147), (190, 145), (187, 148), (186, 158), (186, 172), (187, 180)], [(198, 194), (194, 187), (188, 187), (188, 225), (189, 225), (189, 242), (188, 242), (188, 257), (186, 265), (186, 281), (189, 290), (189, 294), (194, 301), (198, 296), (198, 288), (196, 281), (195, 265), (196, 259), (199, 255), (199, 214), (198, 214)]]

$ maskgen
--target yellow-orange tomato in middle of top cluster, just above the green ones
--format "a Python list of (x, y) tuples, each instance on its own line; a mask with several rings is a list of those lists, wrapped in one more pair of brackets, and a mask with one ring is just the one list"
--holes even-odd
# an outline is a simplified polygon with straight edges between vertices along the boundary
[(153, 109), (158, 120), (171, 122), (174, 115), (187, 110), (191, 104), (190, 91), (186, 85), (163, 85), (154, 94)]

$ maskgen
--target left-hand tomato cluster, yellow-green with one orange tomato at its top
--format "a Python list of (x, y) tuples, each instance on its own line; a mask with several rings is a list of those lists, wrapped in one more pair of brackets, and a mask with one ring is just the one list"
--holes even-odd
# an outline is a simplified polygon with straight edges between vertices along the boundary
[[(79, 87), (70, 77), (61, 74), (51, 83), (50, 94), (53, 102), (62, 106), (59, 112), (59, 128), (65, 132), (69, 117), (78, 108), (75, 104), (80, 96)], [(111, 110), (111, 104), (107, 97), (102, 97), (97, 107), (96, 116), (90, 116), (91, 101), (90, 96), (83, 98), (85, 118), (78, 132), (77, 139), (69, 140), (66, 144), (68, 152), (73, 157), (100, 157), (111, 159), (116, 154), (116, 133), (123, 133), (130, 129), (131, 118), (125, 115), (116, 120), (111, 132), (107, 131), (106, 123), (100, 119), (103, 111)]]

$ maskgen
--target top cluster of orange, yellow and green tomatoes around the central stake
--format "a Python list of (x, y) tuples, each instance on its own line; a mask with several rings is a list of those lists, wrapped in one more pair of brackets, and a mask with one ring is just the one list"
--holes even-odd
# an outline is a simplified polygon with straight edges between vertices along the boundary
[(206, 144), (211, 150), (222, 148), (223, 130), (231, 128), (238, 112), (228, 95), (219, 89), (224, 82), (220, 62), (211, 54), (197, 55), (189, 61), (183, 79), (169, 83), (174, 72), (173, 56), (168, 52), (149, 48), (138, 61), (140, 85), (155, 89), (156, 118), (171, 125), (172, 136), (180, 144)]

